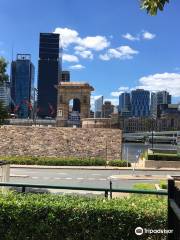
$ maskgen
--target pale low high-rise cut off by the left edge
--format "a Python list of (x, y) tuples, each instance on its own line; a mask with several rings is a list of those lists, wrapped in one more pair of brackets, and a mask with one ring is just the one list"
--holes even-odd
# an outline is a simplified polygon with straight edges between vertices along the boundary
[(10, 105), (10, 83), (4, 82), (0, 84), (0, 101), (5, 107)]

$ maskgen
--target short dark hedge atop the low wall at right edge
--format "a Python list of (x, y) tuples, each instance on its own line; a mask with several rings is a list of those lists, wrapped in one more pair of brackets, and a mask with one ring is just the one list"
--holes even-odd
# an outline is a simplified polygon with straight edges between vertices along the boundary
[(180, 156), (177, 154), (163, 154), (163, 153), (155, 153), (149, 154), (148, 160), (157, 160), (157, 161), (180, 161)]

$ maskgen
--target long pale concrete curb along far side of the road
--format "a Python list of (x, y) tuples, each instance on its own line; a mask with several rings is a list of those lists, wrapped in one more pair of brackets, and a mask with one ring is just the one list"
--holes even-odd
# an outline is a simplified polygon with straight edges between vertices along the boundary
[[(32, 168), (32, 169), (71, 169), (71, 170), (133, 170), (132, 167), (104, 167), (104, 166), (44, 166), (44, 165), (15, 165), (11, 168)], [(135, 168), (135, 171), (180, 171), (180, 168)]]

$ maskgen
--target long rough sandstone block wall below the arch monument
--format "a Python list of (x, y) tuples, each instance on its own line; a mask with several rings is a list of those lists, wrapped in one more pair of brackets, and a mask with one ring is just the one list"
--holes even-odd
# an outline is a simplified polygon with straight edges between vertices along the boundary
[(1, 126), (0, 156), (121, 157), (118, 129)]

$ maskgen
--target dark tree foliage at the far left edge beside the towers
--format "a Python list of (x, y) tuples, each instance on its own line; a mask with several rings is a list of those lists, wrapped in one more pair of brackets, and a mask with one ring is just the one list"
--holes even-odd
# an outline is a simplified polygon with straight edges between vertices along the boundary
[[(0, 87), (4, 82), (8, 81), (9, 77), (6, 74), (7, 62), (4, 58), (0, 57)], [(4, 120), (9, 116), (7, 108), (3, 102), (0, 101), (0, 124), (4, 123)]]

